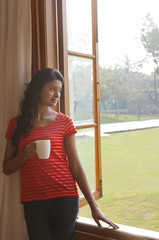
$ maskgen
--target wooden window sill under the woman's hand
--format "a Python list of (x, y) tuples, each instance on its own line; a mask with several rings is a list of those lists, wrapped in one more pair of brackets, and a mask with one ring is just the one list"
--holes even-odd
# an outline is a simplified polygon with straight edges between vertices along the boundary
[(118, 230), (113, 230), (106, 223), (102, 223), (103, 229), (99, 229), (94, 220), (79, 217), (76, 221), (72, 240), (91, 239), (126, 239), (126, 240), (159, 240), (159, 232), (141, 228), (129, 227), (119, 224)]

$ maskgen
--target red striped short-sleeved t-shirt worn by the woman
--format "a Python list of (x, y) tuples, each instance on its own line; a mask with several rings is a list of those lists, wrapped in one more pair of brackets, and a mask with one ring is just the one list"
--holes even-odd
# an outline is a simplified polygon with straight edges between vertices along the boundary
[[(18, 116), (10, 120), (6, 138), (10, 139), (13, 135), (17, 119)], [(35, 140), (51, 140), (49, 159), (39, 159), (35, 155), (28, 159), (21, 168), (21, 202), (78, 196), (76, 182), (70, 172), (64, 149), (64, 138), (76, 132), (72, 119), (59, 112), (51, 124), (34, 127), (30, 136), (20, 138), (19, 152)]]

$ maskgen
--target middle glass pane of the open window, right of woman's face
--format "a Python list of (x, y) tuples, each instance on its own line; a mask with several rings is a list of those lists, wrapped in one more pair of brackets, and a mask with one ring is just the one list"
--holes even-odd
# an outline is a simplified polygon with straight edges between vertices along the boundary
[(68, 58), (70, 116), (75, 123), (94, 122), (93, 61)]

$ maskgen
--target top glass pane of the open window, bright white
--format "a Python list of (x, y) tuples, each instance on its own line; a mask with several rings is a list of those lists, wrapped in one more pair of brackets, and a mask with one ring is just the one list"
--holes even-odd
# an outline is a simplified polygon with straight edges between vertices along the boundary
[(91, 0), (67, 0), (68, 50), (92, 54)]

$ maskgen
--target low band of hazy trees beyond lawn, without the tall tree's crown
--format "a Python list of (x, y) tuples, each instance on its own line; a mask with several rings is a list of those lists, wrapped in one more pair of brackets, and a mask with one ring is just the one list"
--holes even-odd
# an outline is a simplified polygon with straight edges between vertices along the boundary
[(126, 67), (100, 68), (102, 88), (101, 111), (119, 114), (135, 114), (140, 120), (142, 114), (158, 115), (158, 75), (134, 72)]

